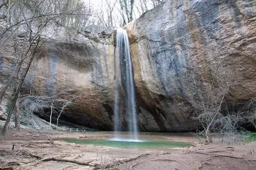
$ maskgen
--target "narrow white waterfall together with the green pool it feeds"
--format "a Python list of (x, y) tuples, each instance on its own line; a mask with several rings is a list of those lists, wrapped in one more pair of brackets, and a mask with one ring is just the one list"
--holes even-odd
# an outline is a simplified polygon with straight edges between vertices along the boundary
[[(127, 122), (127, 123), (126, 123)], [(143, 140), (138, 138), (138, 125), (136, 120), (136, 98), (134, 77), (132, 72), (132, 60), (129, 50), (129, 40), (124, 29), (116, 30), (115, 49), (115, 116), (114, 116), (114, 137), (111, 139), (63, 139), (68, 143), (93, 144), (93, 146), (111, 146), (127, 148), (134, 152), (145, 148), (159, 151), (164, 148), (189, 147), (191, 144), (177, 141), (170, 141), (159, 135), (141, 135)], [(120, 133), (122, 130), (129, 130), (129, 134)], [(105, 132), (106, 133), (106, 132)], [(111, 153), (112, 154), (112, 153)], [(126, 154), (126, 153), (125, 153)]]

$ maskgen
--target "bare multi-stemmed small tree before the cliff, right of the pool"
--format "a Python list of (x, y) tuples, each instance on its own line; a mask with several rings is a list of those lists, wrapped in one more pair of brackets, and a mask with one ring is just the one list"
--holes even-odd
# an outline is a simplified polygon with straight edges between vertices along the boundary
[(232, 119), (230, 114), (225, 115), (221, 112), (228, 90), (228, 83), (226, 81), (216, 81), (217, 76), (222, 72), (223, 68), (220, 62), (212, 75), (211, 86), (209, 88), (205, 88), (201, 84), (200, 79), (193, 70), (189, 72), (188, 80), (191, 80), (189, 82), (189, 86), (191, 86), (189, 100), (195, 109), (194, 116), (196, 120), (204, 128), (201, 134), (204, 134), (207, 143), (212, 143), (210, 136), (212, 130), (234, 130), (237, 125), (236, 123), (232, 125), (231, 122), (234, 123), (234, 119)]

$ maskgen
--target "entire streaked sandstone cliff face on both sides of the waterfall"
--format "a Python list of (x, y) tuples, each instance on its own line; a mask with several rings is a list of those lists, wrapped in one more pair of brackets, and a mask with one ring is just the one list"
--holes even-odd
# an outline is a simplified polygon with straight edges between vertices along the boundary
[[(227, 101), (256, 97), (256, 1), (168, 0), (125, 29), (131, 44), (140, 130), (200, 128), (193, 120), (193, 104), (200, 104), (195, 99), (198, 89), (203, 95), (212, 88), (221, 89)], [(44, 45), (27, 78), (36, 88), (56, 84), (59, 89), (76, 89), (76, 104), (63, 118), (111, 130), (113, 31), (86, 29), (76, 36), (67, 34), (62, 30)], [(11, 49), (1, 52), (1, 71), (8, 70), (12, 56)]]

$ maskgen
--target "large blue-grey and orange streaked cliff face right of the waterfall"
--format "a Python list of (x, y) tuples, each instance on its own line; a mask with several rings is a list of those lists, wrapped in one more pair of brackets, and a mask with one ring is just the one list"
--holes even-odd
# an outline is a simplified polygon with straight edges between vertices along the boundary
[(195, 93), (212, 88), (256, 97), (256, 1), (168, 0), (126, 29), (142, 128), (195, 130)]

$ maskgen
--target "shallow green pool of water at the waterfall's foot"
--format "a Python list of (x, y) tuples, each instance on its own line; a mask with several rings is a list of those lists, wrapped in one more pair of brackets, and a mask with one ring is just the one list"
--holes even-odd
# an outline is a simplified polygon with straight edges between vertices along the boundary
[(111, 146), (116, 148), (184, 148), (191, 144), (176, 141), (143, 140), (143, 142), (109, 141), (108, 139), (62, 139), (67, 143), (93, 144), (95, 146)]

